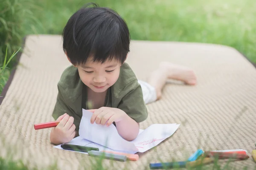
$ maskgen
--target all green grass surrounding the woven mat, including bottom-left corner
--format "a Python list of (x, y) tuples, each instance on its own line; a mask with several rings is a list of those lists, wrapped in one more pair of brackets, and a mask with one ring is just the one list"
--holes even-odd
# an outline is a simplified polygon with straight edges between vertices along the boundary
[[(69, 17), (89, 2), (116, 10), (133, 40), (228, 45), (256, 62), (255, 0), (0, 0), (0, 64), (6, 45), (8, 60), (27, 34), (61, 34)], [(13, 62), (1, 75), (0, 93)], [(0, 169), (19, 169), (15, 166), (0, 159)]]

